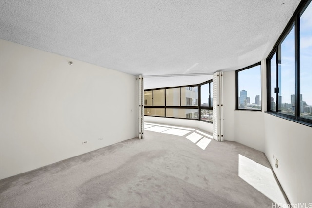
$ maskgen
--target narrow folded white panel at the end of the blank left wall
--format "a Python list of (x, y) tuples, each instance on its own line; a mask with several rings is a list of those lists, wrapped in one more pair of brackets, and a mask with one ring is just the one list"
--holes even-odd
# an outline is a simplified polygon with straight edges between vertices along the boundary
[(138, 76), (138, 105), (139, 105), (139, 118), (138, 118), (138, 137), (144, 139), (144, 81), (143, 75)]

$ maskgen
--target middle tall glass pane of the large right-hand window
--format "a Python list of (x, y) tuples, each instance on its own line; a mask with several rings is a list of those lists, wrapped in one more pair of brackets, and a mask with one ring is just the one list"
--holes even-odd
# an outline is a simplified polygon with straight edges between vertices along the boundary
[(295, 62), (294, 26), (279, 46), (278, 57), (278, 104), (283, 114), (294, 115), (295, 110)]

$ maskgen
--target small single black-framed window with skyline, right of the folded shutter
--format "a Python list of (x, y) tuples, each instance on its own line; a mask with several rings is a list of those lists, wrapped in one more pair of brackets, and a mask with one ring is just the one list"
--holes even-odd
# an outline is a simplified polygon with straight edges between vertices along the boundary
[(236, 110), (261, 110), (260, 63), (236, 71)]

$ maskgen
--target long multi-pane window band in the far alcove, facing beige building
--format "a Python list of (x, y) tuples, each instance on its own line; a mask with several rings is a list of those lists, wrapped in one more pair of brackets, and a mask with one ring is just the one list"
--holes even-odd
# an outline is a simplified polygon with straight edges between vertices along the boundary
[(211, 84), (145, 90), (144, 115), (212, 122)]

